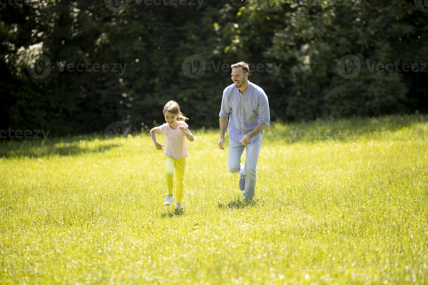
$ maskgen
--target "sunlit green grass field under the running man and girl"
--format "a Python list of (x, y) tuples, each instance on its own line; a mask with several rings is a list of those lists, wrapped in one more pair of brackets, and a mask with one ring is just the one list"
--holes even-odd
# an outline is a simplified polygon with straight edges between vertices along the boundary
[(425, 121), (272, 123), (250, 205), (194, 131), (182, 213), (148, 134), (3, 141), (0, 283), (428, 284)]

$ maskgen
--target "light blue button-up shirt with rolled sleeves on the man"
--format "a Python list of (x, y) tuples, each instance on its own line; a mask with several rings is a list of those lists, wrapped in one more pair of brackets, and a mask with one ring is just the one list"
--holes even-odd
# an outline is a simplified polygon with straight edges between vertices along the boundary
[[(241, 138), (256, 129), (260, 122), (269, 126), (268, 97), (262, 88), (250, 81), (242, 94), (235, 84), (229, 85), (223, 91), (219, 116), (229, 118), (227, 132), (232, 139), (239, 143)], [(251, 138), (250, 143), (260, 138), (262, 133)]]

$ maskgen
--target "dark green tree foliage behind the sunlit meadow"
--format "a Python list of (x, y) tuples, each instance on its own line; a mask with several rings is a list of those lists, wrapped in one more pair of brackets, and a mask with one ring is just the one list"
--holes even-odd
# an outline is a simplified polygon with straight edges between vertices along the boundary
[[(197, 9), (197, 1), (131, 0), (122, 12), (104, 1), (0, 6), (0, 129), (67, 135), (104, 132), (124, 121), (140, 132), (163, 122), (169, 100), (180, 103), (191, 128), (216, 127), (223, 89), (231, 84), (222, 65), (240, 60), (261, 65), (250, 81), (268, 94), (271, 120), (427, 112), (428, 72), (376, 71), (379, 63), (423, 68), (428, 62), (428, 13), (414, 1), (276, 1), (277, 12), (262, 2), (205, 0)], [(36, 79), (27, 65), (40, 54), (52, 70)], [(195, 54), (206, 71), (191, 79), (182, 64)], [(337, 70), (347, 55), (360, 60), (353, 79)], [(126, 68), (123, 74), (61, 71), (60, 62)]]

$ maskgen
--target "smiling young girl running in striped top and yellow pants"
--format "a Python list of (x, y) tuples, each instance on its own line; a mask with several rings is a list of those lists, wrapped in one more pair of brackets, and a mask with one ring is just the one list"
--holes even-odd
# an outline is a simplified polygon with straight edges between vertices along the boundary
[[(165, 160), (165, 178), (166, 178), (166, 199), (163, 205), (169, 206), (174, 200), (172, 195), (172, 178), (174, 177), (175, 170), (175, 209), (182, 210), (181, 198), (183, 197), (184, 188), (184, 168), (186, 167), (186, 137), (189, 141), (193, 141), (193, 135), (189, 131), (189, 126), (185, 120), (189, 118), (184, 117), (180, 111), (180, 106), (175, 101), (169, 101), (163, 107), (163, 115), (165, 116), (166, 123), (157, 126), (150, 130), (150, 136), (157, 150), (163, 150)], [(159, 144), (156, 139), (156, 133), (161, 132), (165, 136), (165, 145)]]

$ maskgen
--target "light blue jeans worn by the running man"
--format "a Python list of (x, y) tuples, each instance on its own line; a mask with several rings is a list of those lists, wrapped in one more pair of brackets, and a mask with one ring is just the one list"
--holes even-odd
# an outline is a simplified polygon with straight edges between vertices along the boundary
[[(235, 141), (233, 138), (229, 139), (229, 152), (227, 153), (227, 170), (231, 173), (239, 173), (247, 175), (245, 179), (245, 199), (253, 199), (254, 192), (256, 191), (256, 166), (259, 160), (260, 148), (262, 147), (262, 136), (246, 146)], [(245, 165), (241, 164), (241, 156), (247, 151), (245, 156)]]

